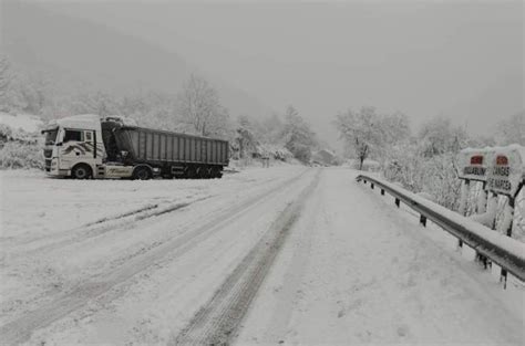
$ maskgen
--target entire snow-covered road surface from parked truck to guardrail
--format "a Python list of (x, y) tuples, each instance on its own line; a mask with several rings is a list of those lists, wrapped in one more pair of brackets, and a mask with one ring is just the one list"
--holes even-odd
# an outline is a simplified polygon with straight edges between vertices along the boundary
[(523, 291), (500, 290), (443, 231), (353, 177), (294, 166), (195, 181), (4, 174), (0, 339), (524, 343)]

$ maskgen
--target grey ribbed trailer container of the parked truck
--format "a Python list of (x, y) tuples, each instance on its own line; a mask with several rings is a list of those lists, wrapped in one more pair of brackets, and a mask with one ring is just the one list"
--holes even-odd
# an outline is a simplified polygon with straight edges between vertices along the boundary
[[(105, 125), (105, 126), (104, 126)], [(229, 160), (227, 140), (135, 126), (111, 127), (113, 156), (126, 165), (145, 165), (163, 177), (220, 178)], [(109, 157), (112, 150), (109, 150)]]

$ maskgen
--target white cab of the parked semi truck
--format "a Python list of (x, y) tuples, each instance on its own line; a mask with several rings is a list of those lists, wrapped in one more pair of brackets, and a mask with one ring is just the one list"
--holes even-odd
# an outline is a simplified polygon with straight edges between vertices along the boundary
[(42, 130), (45, 135), (45, 171), (55, 177), (96, 178), (105, 160), (101, 120), (97, 115), (58, 119)]

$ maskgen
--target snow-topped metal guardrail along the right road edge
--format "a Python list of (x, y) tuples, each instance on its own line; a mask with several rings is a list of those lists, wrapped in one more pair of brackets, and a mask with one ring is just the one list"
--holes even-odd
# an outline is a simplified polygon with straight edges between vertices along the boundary
[[(490, 239), (485, 239), (483, 235), (478, 234), (478, 232), (476, 232), (473, 228), (469, 228), (464, 224), (459, 223), (457, 221), (453, 220), (453, 218), (446, 216), (444, 212), (439, 212), (436, 210), (433, 210), (432, 208), (429, 208), (429, 206), (421, 205), (415, 200), (414, 197), (412, 197), (412, 192), (409, 192), (403, 188), (393, 187), (391, 184), (381, 181), (380, 179), (367, 175), (360, 175), (356, 179), (357, 181), (364, 181), (364, 184), (370, 182), (372, 189), (374, 188), (374, 186), (377, 186), (381, 189), (381, 195), (384, 195), (384, 191), (389, 192), (391, 196), (394, 197), (395, 205), (398, 207), (402, 201), (408, 207), (420, 213), (421, 224), (426, 226), (426, 219), (431, 220), (432, 222), (440, 226), (445, 231), (447, 231), (449, 233), (456, 237), (465, 244), (474, 249), (481, 255), (484, 255), (492, 262), (500, 265), (502, 268), (502, 276), (505, 277), (505, 282), (506, 271), (512, 273), (521, 281), (525, 281), (525, 254), (513, 253), (501, 244), (494, 243)], [(434, 205), (436, 207), (435, 209), (443, 208), (442, 206), (439, 206), (431, 201), (425, 201), (425, 205)], [(457, 217), (464, 218), (460, 214), (457, 214)], [(487, 228), (487, 230), (490, 229)]]

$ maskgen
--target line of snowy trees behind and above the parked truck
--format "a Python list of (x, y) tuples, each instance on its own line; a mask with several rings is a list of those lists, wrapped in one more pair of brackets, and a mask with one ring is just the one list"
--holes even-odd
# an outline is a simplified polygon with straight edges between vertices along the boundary
[[(72, 83), (72, 82), (71, 82)], [(310, 126), (289, 106), (282, 114), (233, 117), (217, 90), (191, 74), (178, 93), (137, 90), (117, 95), (82, 81), (60, 85), (45, 73), (29, 74), (0, 57), (0, 112), (27, 113), (43, 119), (75, 114), (119, 115), (145, 127), (228, 139), (234, 158), (265, 156), (308, 162), (318, 146)]]

